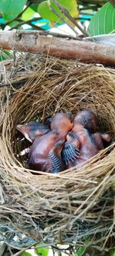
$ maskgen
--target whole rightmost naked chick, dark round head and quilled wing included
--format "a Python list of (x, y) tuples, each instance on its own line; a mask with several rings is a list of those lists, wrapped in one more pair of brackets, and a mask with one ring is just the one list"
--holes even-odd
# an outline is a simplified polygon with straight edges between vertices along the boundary
[[(67, 167), (84, 165), (87, 161), (110, 144), (111, 138), (107, 134), (95, 133), (97, 131), (97, 117), (92, 111), (79, 111), (74, 118), (74, 127), (67, 135), (62, 156)], [(93, 133), (93, 134), (92, 134)]]

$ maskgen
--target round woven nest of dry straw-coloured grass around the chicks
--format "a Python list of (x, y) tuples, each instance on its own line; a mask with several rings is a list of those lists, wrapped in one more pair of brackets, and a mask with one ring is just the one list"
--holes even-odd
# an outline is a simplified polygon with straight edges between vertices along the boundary
[(36, 117), (44, 121), (58, 111), (76, 115), (90, 109), (99, 119), (98, 131), (115, 139), (115, 70), (58, 58), (43, 60), (21, 88), (11, 88), (11, 93), (4, 89), (0, 235), (8, 242), (15, 234), (25, 234), (30, 244), (87, 240), (104, 248), (115, 234), (115, 143), (85, 168), (46, 174), (25, 168), (26, 156), (20, 155), (25, 143), (18, 139), (16, 125)]

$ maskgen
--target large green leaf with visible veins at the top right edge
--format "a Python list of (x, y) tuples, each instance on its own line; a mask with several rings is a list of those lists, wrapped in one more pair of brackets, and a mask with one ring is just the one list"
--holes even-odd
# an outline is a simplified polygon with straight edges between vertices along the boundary
[(115, 30), (115, 8), (107, 2), (90, 20), (88, 35), (109, 34)]

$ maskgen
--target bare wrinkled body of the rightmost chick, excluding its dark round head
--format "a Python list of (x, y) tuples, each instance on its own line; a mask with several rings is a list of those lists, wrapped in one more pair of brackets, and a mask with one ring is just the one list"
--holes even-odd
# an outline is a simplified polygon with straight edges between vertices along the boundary
[(92, 135), (81, 124), (77, 124), (76, 129), (67, 135), (64, 144), (63, 158), (67, 168), (77, 165), (77, 168), (85, 166), (85, 161), (104, 148), (104, 141), (110, 142), (110, 135), (95, 133)]

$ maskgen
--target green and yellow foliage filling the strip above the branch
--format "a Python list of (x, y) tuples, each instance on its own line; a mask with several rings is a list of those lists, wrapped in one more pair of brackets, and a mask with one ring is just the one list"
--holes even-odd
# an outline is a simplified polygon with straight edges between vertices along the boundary
[[(112, 2), (112, 4), (110, 4)], [(0, 26), (13, 28), (46, 30), (49, 26), (66, 22), (71, 25), (70, 17), (81, 23), (90, 20), (88, 35), (100, 35), (115, 31), (114, 0), (1, 0)], [(67, 12), (67, 13), (66, 13)], [(67, 15), (68, 14), (68, 15)], [(70, 15), (70, 16), (69, 16)]]

